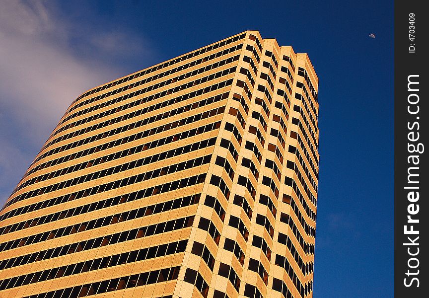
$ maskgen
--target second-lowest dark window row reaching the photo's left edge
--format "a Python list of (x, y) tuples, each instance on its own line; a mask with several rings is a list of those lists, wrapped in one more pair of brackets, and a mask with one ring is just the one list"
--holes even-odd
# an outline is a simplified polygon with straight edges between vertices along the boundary
[(150, 224), (135, 228), (129, 231), (122, 231), (110, 235), (104, 235), (97, 238), (91, 238), (80, 242), (74, 242), (64, 246), (50, 248), (47, 250), (36, 251), (30, 254), (5, 259), (0, 261), (0, 270), (13, 268), (20, 265), (30, 264), (42, 260), (48, 260), (60, 256), (65, 256), (75, 252), (98, 248), (105, 245), (121, 243), (129, 240), (135, 240), (146, 236), (166, 233), (192, 226), (194, 217), (175, 219), (157, 224)]

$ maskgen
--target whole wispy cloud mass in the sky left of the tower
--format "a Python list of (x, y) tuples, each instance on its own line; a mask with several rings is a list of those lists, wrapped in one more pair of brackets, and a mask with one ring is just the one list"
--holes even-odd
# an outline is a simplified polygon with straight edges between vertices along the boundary
[[(48, 5), (49, 4), (49, 5)], [(124, 75), (112, 57), (150, 54), (132, 33), (60, 18), (52, 3), (0, 5), (0, 204), (80, 93)], [(98, 59), (95, 59), (98, 57)]]

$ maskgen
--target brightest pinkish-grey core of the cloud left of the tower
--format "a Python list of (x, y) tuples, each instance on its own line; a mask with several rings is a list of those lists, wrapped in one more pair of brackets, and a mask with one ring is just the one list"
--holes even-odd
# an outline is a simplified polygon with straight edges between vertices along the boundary
[(1, 107), (34, 141), (53, 128), (80, 93), (114, 77), (43, 42), (4, 34), (0, 39), (6, 41), (0, 48)]

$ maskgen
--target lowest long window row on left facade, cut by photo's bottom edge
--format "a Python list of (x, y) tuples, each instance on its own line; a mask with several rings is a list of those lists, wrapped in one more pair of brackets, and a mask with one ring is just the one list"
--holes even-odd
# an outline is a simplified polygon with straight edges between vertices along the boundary
[[(123, 276), (112, 280), (104, 280), (101, 282), (94, 282), (82, 286), (75, 286), (71, 288), (55, 290), (47, 293), (31, 295), (25, 298), (50, 298), (50, 297), (86, 297), (108, 292), (114, 292), (124, 289), (136, 288), (155, 283), (162, 283), (166, 281), (176, 280), (179, 276), (180, 266), (165, 268), (161, 270), (154, 270), (150, 272), (143, 272), (133, 274), (130, 276)], [(172, 296), (165, 296), (162, 298), (171, 298)]]

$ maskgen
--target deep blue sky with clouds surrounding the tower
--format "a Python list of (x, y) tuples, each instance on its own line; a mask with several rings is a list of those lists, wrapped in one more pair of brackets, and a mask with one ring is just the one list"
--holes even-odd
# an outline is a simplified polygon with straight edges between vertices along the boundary
[(1, 204), (80, 93), (259, 30), (319, 76), (314, 297), (393, 297), (393, 1), (150, 2), (2, 1)]

